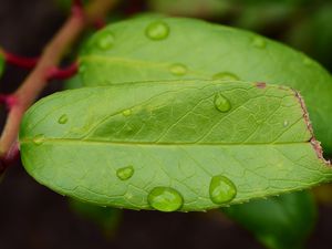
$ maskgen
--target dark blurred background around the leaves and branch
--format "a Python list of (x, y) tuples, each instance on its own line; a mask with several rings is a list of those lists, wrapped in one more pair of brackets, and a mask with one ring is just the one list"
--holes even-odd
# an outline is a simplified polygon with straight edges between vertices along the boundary
[[(117, 11), (128, 14), (142, 9), (146, 9), (143, 1), (131, 3), (125, 1)], [(0, 44), (18, 54), (38, 55), (65, 17), (65, 11), (56, 7), (52, 0), (0, 0)], [(232, 18), (212, 19), (231, 24)], [(258, 31), (282, 40), (287, 32), (283, 30), (286, 21), (289, 20), (282, 20), (279, 25), (278, 22), (277, 25), (274, 23), (272, 29), (259, 28)], [(308, 48), (310, 51), (311, 46)], [(321, 62), (331, 69), (331, 60), (322, 58)], [(0, 81), (0, 92), (13, 91), (27, 73), (28, 71), (7, 66)], [(44, 94), (60, 90), (61, 86), (61, 82), (51, 82)], [(1, 127), (4, 117), (6, 111), (1, 107)], [(331, 228), (332, 207), (320, 205), (319, 222), (308, 247), (332, 248)], [(18, 163), (9, 168), (0, 184), (0, 249), (23, 248), (258, 249), (262, 247), (248, 231), (225, 218), (219, 211), (162, 214), (124, 210), (120, 226), (112, 237), (106, 238), (97, 226), (74, 214), (66, 198), (37, 184)]]

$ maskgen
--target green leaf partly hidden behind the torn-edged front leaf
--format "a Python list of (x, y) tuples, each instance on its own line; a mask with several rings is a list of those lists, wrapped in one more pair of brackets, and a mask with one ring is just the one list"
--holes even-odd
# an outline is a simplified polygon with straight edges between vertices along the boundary
[(194, 19), (149, 17), (108, 25), (80, 56), (85, 85), (226, 79), (287, 84), (303, 95), (332, 153), (332, 77), (315, 61), (258, 34)]

